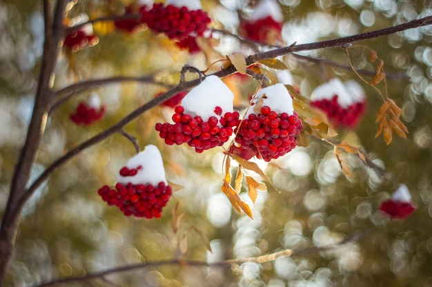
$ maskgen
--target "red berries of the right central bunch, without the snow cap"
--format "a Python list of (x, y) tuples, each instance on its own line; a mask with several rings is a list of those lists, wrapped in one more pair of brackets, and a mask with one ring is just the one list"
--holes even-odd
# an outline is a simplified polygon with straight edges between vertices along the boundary
[(242, 121), (235, 137), (239, 147), (234, 153), (241, 156), (246, 149), (249, 150), (248, 156), (253, 154), (268, 162), (295, 148), (302, 129), (302, 122), (295, 111), (291, 116), (285, 112), (277, 114), (263, 105), (260, 114), (249, 114)]

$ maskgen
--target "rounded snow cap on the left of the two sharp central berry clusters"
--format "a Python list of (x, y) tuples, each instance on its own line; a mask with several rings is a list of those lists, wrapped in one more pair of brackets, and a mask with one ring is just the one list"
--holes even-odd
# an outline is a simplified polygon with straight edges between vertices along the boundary
[[(181, 100), (184, 113), (201, 116), (206, 121), (215, 114), (215, 107), (222, 108), (222, 115), (233, 112), (234, 94), (217, 76), (207, 76), (202, 83), (190, 90)], [(220, 116), (217, 116), (220, 118)]]

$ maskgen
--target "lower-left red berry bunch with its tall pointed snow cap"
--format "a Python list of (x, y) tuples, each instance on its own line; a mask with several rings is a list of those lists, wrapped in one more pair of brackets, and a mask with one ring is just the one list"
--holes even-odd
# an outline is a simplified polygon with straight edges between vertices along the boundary
[(166, 182), (159, 149), (148, 145), (120, 169), (115, 187), (104, 185), (98, 193), (105, 202), (117, 206), (126, 216), (161, 217), (173, 189)]

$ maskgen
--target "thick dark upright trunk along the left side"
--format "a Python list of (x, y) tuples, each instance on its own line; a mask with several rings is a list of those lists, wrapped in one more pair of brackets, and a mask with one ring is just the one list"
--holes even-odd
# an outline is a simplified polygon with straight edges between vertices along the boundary
[(22, 209), (19, 202), (21, 202), (21, 199), (27, 193), (26, 186), (48, 119), (48, 109), (50, 108), (52, 99), (50, 79), (57, 62), (58, 44), (63, 32), (63, 10), (65, 6), (66, 0), (57, 1), (54, 17), (51, 17), (49, 1), (43, 1), (46, 29), (39, 84), (35, 96), (35, 107), (30, 125), (28, 126), (26, 142), (21, 149), (19, 160), (14, 170), (8, 203), (0, 227), (0, 286), (3, 286), (6, 269), (12, 257), (15, 235), (19, 224), (19, 215)]

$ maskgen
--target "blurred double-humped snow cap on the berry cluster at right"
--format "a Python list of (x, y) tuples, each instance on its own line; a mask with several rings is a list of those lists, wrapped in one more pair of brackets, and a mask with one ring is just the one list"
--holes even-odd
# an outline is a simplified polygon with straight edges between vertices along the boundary
[(311, 100), (331, 100), (336, 95), (337, 103), (344, 108), (364, 100), (364, 90), (359, 83), (351, 80), (344, 84), (340, 78), (332, 78), (316, 87), (311, 94)]

